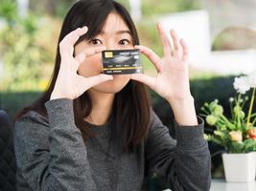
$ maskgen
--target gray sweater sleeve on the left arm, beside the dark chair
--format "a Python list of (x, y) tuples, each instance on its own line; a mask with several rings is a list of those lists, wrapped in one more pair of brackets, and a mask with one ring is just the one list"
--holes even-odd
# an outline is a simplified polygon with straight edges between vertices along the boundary
[(14, 124), (18, 168), (34, 191), (96, 190), (71, 99), (45, 103), (47, 119), (37, 113)]

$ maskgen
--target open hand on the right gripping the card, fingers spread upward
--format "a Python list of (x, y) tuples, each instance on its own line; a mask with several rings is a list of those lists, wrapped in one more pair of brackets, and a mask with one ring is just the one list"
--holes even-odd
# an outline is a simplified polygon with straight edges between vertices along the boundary
[(174, 51), (172, 55), (172, 46), (158, 24), (157, 30), (161, 37), (164, 49), (164, 56), (160, 58), (151, 49), (145, 46), (135, 46), (144, 53), (153, 63), (157, 75), (155, 77), (147, 74), (131, 74), (131, 79), (147, 84), (158, 95), (163, 96), (169, 102), (173, 100), (184, 100), (191, 98), (189, 85), (189, 69), (188, 69), (188, 47), (183, 39), (178, 39), (175, 31), (171, 31), (174, 41)]

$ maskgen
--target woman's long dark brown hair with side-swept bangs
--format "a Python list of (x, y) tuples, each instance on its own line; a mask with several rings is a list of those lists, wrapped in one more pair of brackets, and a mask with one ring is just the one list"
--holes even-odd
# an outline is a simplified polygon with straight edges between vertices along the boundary
[[(113, 0), (81, 0), (77, 2), (70, 11), (68, 11), (64, 19), (58, 38), (58, 44), (69, 32), (83, 26), (87, 26), (89, 31), (81, 36), (76, 44), (84, 39), (93, 38), (102, 32), (106, 17), (112, 11), (117, 12), (124, 19), (131, 32), (133, 45), (138, 45), (138, 34), (128, 11), (121, 4)], [(47, 117), (44, 104), (50, 99), (55, 87), (59, 66), (60, 54), (58, 47), (55, 69), (49, 88), (42, 96), (35, 100), (31, 106), (24, 108), (17, 117), (15, 117), (15, 120), (31, 110), (34, 110), (43, 117)], [(147, 137), (150, 128), (150, 110), (151, 103), (147, 88), (140, 82), (129, 80), (126, 87), (115, 94), (111, 115), (114, 117), (115, 121), (113, 125), (115, 129), (113, 132), (115, 133), (115, 137), (119, 139), (124, 152), (133, 152), (135, 146)], [(81, 130), (84, 141), (86, 141), (87, 138), (95, 136), (91, 132), (88, 123), (84, 121), (84, 117), (88, 117), (91, 111), (92, 102), (87, 92), (74, 100), (75, 122), (77, 127)]]

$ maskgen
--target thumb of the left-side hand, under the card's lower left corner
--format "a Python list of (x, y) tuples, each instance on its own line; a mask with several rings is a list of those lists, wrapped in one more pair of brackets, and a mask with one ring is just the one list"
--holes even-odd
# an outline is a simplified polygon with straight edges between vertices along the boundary
[(86, 77), (83, 79), (85, 90), (90, 89), (93, 86), (96, 86), (100, 83), (103, 83), (108, 80), (112, 80), (113, 76), (109, 74), (98, 74), (91, 77)]

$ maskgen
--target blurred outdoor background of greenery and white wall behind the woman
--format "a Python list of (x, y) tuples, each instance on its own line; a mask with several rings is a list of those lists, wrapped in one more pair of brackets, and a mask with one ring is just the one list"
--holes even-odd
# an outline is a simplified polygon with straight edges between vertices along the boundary
[[(54, 69), (58, 33), (74, 0), (0, 0), (0, 108), (12, 117), (48, 86)], [(118, 0), (132, 15), (141, 44), (162, 55), (156, 31), (175, 29), (191, 52), (191, 91), (196, 108), (218, 98), (229, 115), (235, 76), (256, 70), (256, 0)], [(143, 56), (145, 73), (155, 74)], [(248, 94), (251, 94), (250, 92)], [(155, 112), (175, 137), (171, 108), (151, 92)], [(247, 107), (247, 106), (245, 106)], [(255, 111), (255, 108), (254, 108)], [(207, 125), (205, 131), (208, 130)], [(209, 142), (213, 178), (223, 178), (222, 148)], [(166, 185), (155, 175), (145, 190)]]

